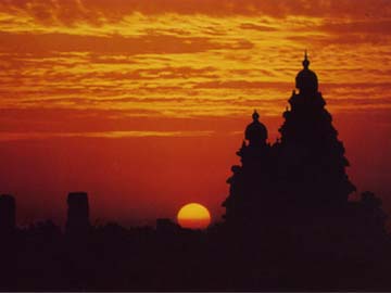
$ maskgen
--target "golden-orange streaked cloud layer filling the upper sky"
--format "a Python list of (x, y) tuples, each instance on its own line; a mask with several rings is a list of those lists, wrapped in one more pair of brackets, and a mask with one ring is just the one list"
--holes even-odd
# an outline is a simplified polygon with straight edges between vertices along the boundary
[(63, 117), (85, 128), (100, 115), (110, 131), (154, 131), (124, 125), (243, 117), (254, 107), (279, 117), (305, 48), (332, 111), (389, 110), (390, 7), (380, 0), (2, 1), (2, 128), (12, 132), (17, 119), (31, 128), (64, 125)]

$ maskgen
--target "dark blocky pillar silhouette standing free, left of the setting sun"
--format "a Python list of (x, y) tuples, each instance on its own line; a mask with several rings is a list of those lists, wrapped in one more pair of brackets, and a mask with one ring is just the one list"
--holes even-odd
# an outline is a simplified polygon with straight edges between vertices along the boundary
[(66, 234), (86, 235), (90, 229), (89, 205), (86, 192), (71, 192), (67, 196)]

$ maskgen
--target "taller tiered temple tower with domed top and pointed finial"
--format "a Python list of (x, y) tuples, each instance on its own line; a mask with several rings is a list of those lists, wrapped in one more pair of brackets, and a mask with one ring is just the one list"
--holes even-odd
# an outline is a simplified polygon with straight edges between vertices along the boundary
[(283, 113), (278, 149), (279, 187), (289, 201), (308, 205), (345, 203), (355, 190), (345, 173), (349, 162), (338, 140), (326, 102), (318, 91), (318, 78), (310, 68), (305, 52), (303, 69), (295, 78)]

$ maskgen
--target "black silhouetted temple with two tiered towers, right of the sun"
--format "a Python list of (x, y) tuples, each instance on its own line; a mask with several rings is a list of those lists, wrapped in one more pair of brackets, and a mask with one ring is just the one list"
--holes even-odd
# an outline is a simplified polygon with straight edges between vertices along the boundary
[(256, 219), (276, 224), (275, 215), (281, 211), (305, 215), (336, 209), (355, 191), (345, 171), (349, 162), (343, 144), (325, 109), (306, 52), (302, 64), (290, 109), (283, 113), (280, 139), (267, 143), (267, 129), (256, 111), (245, 129), (245, 141), (237, 152), (241, 165), (232, 166), (234, 175), (227, 180), (226, 222), (251, 225)]

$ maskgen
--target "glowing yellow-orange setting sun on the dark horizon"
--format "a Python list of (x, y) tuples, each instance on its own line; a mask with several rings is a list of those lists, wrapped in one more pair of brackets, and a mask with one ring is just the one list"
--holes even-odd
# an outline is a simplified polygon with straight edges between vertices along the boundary
[(211, 224), (211, 214), (206, 207), (198, 203), (184, 205), (177, 215), (182, 228), (205, 229)]

